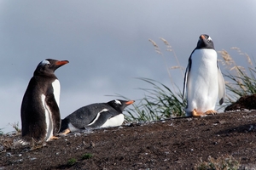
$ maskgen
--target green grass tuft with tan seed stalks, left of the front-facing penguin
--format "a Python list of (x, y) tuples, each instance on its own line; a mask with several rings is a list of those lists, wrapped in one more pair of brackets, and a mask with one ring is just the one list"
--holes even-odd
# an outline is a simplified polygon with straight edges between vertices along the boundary
[[(173, 116), (185, 115), (183, 108), (185, 107), (186, 102), (183, 100), (181, 90), (177, 88), (177, 85), (172, 81), (171, 74), (172, 69), (179, 69), (183, 77), (183, 67), (180, 65), (177, 59), (177, 55), (175, 54), (170, 43), (162, 37), (160, 37), (160, 40), (164, 42), (166, 46), (166, 51), (173, 54), (174, 58), (177, 61), (177, 65), (169, 67), (166, 62), (166, 56), (161, 52), (159, 45), (152, 39), (149, 39), (148, 41), (151, 42), (154, 46), (155, 52), (157, 54), (160, 54), (160, 56), (162, 57), (166, 66), (166, 71), (171, 80), (172, 89), (168, 88), (163, 83), (157, 82), (150, 78), (138, 78), (143, 82), (149, 83), (152, 88), (139, 88), (140, 90), (143, 90), (145, 96), (143, 97), (143, 99), (140, 99), (140, 101), (138, 101), (136, 104), (133, 104), (134, 108), (128, 108), (125, 110), (128, 113), (127, 115), (125, 115), (125, 119), (129, 122), (154, 121), (166, 119)], [(125, 98), (124, 96), (119, 97)]]

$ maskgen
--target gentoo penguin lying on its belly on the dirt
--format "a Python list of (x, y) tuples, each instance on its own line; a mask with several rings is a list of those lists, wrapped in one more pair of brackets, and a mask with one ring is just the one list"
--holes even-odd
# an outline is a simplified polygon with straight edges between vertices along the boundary
[(120, 126), (125, 120), (122, 112), (133, 103), (134, 100), (114, 99), (108, 103), (86, 105), (61, 120), (60, 132), (67, 134), (84, 128)]

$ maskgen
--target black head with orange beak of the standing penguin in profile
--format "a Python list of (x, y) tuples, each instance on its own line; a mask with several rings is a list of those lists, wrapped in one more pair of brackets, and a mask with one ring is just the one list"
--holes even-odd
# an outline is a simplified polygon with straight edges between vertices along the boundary
[(54, 74), (57, 68), (67, 63), (69, 63), (68, 60), (45, 59), (38, 64), (37, 69), (34, 71), (34, 76)]

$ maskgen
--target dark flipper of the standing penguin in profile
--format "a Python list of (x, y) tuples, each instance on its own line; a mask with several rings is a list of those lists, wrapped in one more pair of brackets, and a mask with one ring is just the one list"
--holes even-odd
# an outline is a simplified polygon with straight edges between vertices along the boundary
[(51, 112), (51, 118), (53, 121), (53, 135), (59, 133), (61, 128), (61, 116), (60, 109), (55, 100), (54, 94), (48, 94), (45, 97), (45, 105), (47, 105), (47, 109)]

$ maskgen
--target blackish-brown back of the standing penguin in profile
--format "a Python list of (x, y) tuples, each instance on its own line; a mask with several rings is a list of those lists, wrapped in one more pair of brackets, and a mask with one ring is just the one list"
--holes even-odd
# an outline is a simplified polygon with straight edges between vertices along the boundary
[(54, 81), (55, 77), (34, 76), (28, 83), (21, 105), (23, 137), (40, 140), (42, 134), (46, 133), (46, 128), (38, 128), (46, 127), (42, 94), (47, 97), (53, 93), (51, 83)]

